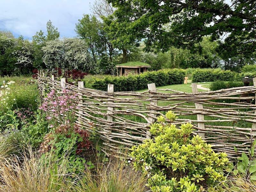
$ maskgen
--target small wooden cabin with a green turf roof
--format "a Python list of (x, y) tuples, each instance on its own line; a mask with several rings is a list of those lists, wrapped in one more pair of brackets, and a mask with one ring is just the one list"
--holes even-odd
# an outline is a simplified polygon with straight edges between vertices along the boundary
[(148, 70), (151, 66), (147, 63), (142, 63), (140, 61), (131, 61), (127, 63), (122, 63), (119, 65), (116, 65), (117, 68), (117, 76), (128, 76), (128, 74), (133, 75), (140, 75), (140, 73), (143, 73)]

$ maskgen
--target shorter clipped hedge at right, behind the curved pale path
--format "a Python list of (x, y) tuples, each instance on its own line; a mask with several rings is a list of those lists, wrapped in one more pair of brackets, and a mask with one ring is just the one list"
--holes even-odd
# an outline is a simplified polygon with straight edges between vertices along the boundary
[(192, 82), (212, 82), (212, 81), (231, 81), (234, 79), (235, 72), (230, 70), (221, 70), (221, 69), (196, 69), (192, 73)]

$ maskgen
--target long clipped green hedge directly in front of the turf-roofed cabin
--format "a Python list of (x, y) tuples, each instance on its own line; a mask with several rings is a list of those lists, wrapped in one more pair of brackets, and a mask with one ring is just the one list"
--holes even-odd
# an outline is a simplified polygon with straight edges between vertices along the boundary
[(108, 84), (114, 84), (115, 92), (138, 91), (148, 89), (150, 83), (156, 86), (182, 84), (185, 77), (183, 69), (162, 69), (159, 71), (147, 71), (140, 75), (106, 76), (104, 79), (95, 78), (92, 88), (107, 91)]

